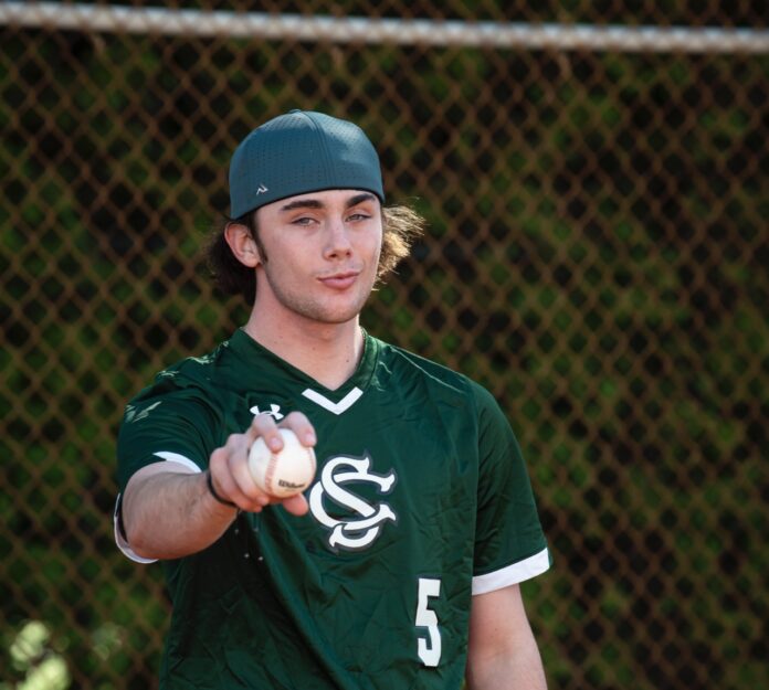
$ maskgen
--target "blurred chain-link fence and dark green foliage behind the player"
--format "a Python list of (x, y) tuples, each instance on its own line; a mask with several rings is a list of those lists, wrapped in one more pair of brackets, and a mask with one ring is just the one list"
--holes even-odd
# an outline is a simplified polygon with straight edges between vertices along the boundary
[(364, 323), (509, 415), (550, 687), (769, 687), (766, 2), (0, 19), (1, 690), (155, 687), (169, 606), (114, 546), (115, 434), (244, 321), (200, 248), (236, 142), (295, 107), (358, 123), (429, 220)]

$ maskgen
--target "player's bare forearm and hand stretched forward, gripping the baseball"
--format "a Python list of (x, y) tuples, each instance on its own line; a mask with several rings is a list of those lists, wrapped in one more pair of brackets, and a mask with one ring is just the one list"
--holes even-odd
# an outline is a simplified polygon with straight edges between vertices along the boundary
[[(301, 413), (286, 416), (282, 426), (291, 428), (306, 446), (315, 445), (315, 431)], [(304, 496), (276, 499), (259, 489), (247, 465), (249, 448), (260, 436), (273, 450), (283, 447), (283, 438), (268, 415), (254, 417), (243, 434), (233, 434), (209, 458), (213, 489), (206, 473), (193, 473), (172, 461), (155, 463), (137, 471), (123, 496), (123, 524), (134, 552), (145, 559), (178, 559), (196, 553), (217, 541), (234, 520), (238, 510), (259, 512), (271, 503), (281, 503), (296, 516), (308, 510)]]

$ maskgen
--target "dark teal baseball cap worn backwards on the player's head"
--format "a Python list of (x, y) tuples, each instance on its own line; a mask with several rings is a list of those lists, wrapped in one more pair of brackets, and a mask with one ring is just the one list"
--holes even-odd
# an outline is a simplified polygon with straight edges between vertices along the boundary
[(230, 162), (230, 217), (307, 192), (369, 191), (383, 203), (379, 156), (362, 129), (312, 110), (291, 110), (254, 129)]

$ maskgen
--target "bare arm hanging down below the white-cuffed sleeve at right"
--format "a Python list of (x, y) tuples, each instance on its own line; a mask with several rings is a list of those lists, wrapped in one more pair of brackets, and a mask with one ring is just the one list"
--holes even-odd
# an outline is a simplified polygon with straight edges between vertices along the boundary
[(470, 614), (467, 688), (547, 688), (539, 649), (526, 616), (518, 585), (473, 597)]

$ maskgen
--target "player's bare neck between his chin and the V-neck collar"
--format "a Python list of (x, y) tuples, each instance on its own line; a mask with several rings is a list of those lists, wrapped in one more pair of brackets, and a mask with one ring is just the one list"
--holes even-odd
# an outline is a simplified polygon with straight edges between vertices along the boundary
[(364, 353), (364, 333), (356, 316), (344, 323), (286, 320), (271, 323), (254, 309), (243, 330), (262, 347), (334, 391), (354, 373)]

